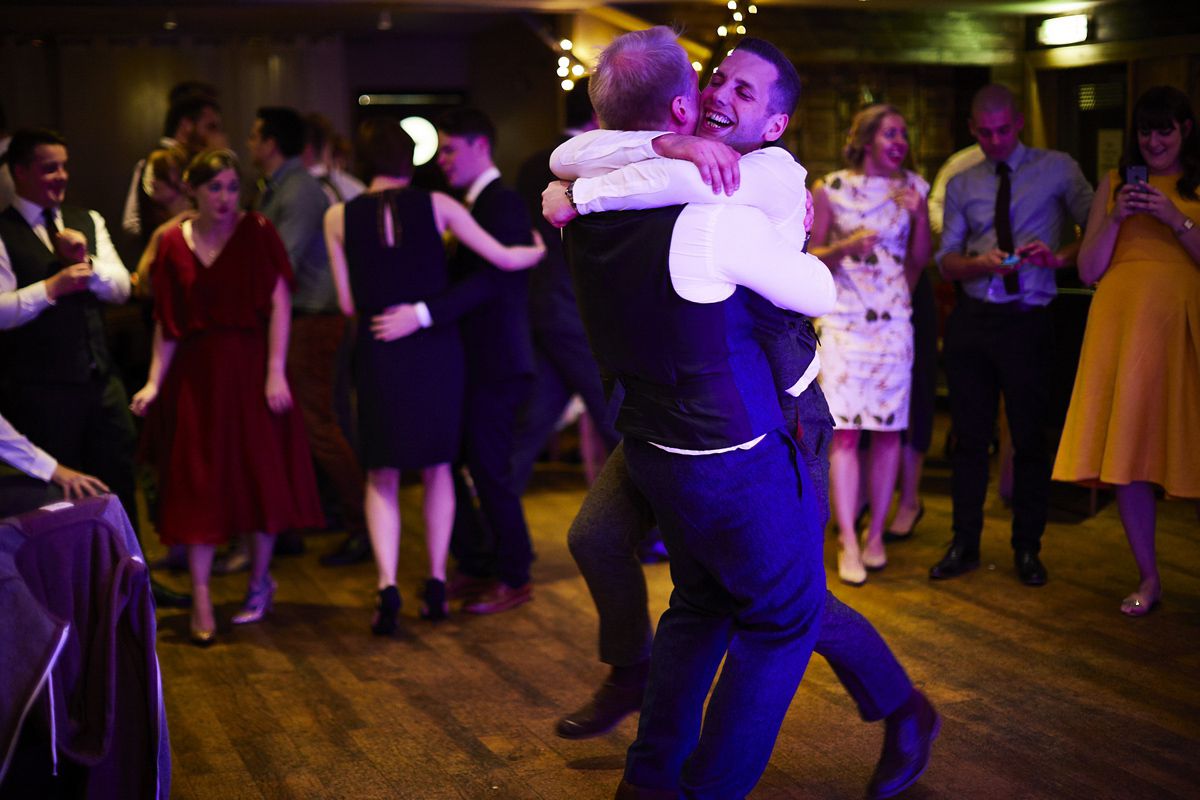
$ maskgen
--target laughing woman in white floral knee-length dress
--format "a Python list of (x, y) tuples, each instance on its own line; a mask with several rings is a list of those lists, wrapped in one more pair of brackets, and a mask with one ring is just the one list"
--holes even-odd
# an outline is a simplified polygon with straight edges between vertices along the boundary
[[(860, 585), (866, 570), (887, 564), (883, 523), (908, 427), (912, 383), (912, 288), (932, 249), (929, 184), (905, 169), (908, 128), (893, 106), (854, 116), (845, 149), (847, 169), (814, 190), (811, 253), (833, 272), (838, 305), (821, 318), (821, 389), (834, 417), (829, 482), (841, 552), (838, 576)], [(871, 432), (868, 489), (871, 522), (859, 548), (858, 439)]]

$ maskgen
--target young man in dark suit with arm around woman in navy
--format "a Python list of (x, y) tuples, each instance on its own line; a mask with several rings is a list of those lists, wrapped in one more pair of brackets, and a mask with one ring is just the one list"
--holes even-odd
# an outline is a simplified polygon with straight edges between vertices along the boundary
[[(504, 185), (492, 161), (496, 128), (482, 112), (455, 108), (437, 120), (438, 166), (450, 186), (462, 190), (472, 216), (502, 245), (533, 242), (521, 196)], [(458, 576), (448, 595), (468, 602), (463, 610), (503, 612), (533, 597), (533, 546), (521, 495), (512, 480), (514, 428), (533, 380), (529, 333), (529, 273), (505, 272), (466, 247), (450, 263), (454, 284), (437, 297), (395, 306), (376, 318), (394, 336), (418, 327), (458, 323), (467, 355), (463, 458), (482, 522), (492, 541), (472, 524), (474, 504), (456, 470), (458, 510), (450, 551)]]

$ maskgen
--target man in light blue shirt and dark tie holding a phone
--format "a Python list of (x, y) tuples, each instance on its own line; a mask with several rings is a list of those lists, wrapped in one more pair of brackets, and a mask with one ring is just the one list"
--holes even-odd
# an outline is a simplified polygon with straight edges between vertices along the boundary
[(1016, 572), (1027, 585), (1046, 582), (1038, 559), (1050, 489), (1044, 426), (1054, 326), (1046, 306), (1056, 294), (1054, 270), (1075, 264), (1079, 242), (1064, 233), (1072, 222), (1086, 222), (1092, 187), (1070, 156), (1021, 144), (1024, 122), (1008, 89), (980, 89), (971, 132), (985, 160), (946, 190), (937, 264), (962, 289), (943, 347), (954, 428), (954, 541), (930, 578), (979, 566), (988, 447), (1003, 392), (1015, 450)]

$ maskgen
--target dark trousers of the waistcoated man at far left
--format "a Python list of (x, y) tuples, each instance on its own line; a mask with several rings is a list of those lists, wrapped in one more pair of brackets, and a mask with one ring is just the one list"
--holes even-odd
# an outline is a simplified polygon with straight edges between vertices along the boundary
[(137, 433), (130, 398), (116, 375), (96, 373), (82, 384), (13, 386), (5, 416), (59, 463), (108, 485), (138, 530), (133, 477)]

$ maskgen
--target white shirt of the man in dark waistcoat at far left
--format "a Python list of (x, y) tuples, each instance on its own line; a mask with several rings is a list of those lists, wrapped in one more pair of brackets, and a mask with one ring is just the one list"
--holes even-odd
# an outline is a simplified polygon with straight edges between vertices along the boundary
[[(46, 231), (42, 206), (20, 196), (13, 198), (12, 205), (42, 243), (53, 252), (54, 246)], [(95, 211), (88, 213), (91, 215), (92, 224), (96, 227), (96, 254), (91, 257), (94, 271), (88, 279), (88, 290), (103, 302), (122, 303), (130, 297), (130, 271), (125, 269), (121, 257), (113, 247), (103, 217)], [(54, 217), (61, 230), (62, 211), (54, 209)], [(4, 240), (0, 240), (0, 330), (24, 325), (53, 305), (54, 301), (46, 294), (46, 281), (17, 288), (17, 276), (12, 271), (8, 248), (5, 247)]]

